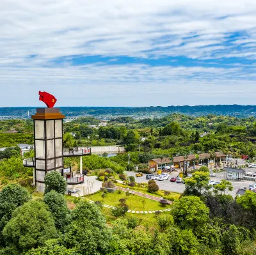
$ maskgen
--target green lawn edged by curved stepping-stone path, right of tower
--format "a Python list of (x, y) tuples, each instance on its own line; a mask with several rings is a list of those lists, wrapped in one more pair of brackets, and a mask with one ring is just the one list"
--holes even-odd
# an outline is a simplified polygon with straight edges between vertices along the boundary
[(129, 206), (129, 210), (134, 211), (157, 211), (170, 208), (170, 205), (162, 206), (158, 201), (148, 199), (146, 197), (140, 197), (136, 195), (126, 196), (125, 192), (108, 193), (104, 199), (101, 197), (101, 193), (87, 196), (88, 199), (93, 201), (101, 201), (105, 205), (118, 206), (120, 205), (119, 199), (125, 198), (126, 205)]

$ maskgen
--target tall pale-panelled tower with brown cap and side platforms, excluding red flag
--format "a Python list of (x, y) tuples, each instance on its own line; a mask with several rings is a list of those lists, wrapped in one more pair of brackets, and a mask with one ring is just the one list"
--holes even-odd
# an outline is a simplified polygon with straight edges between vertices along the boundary
[[(38, 108), (36, 114), (31, 116), (34, 120), (34, 148), (35, 158), (24, 160), (23, 165), (33, 167), (33, 181), (36, 190), (44, 192), (44, 178), (47, 173), (56, 171), (65, 178), (67, 184), (75, 185), (84, 182), (82, 157), (90, 155), (90, 148), (63, 148), (63, 119), (58, 108)], [(20, 148), (26, 148), (28, 144), (19, 144)], [(64, 157), (80, 157), (80, 173), (64, 173)]]

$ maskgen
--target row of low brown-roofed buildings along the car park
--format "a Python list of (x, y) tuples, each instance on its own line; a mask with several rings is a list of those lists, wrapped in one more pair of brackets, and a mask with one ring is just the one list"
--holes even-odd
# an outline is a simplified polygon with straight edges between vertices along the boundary
[(173, 165), (175, 167), (183, 167), (184, 161), (187, 162), (187, 166), (209, 166), (211, 164), (223, 162), (226, 158), (226, 155), (219, 151), (216, 152), (215, 155), (211, 156), (211, 153), (202, 153), (199, 154), (199, 158), (196, 158), (195, 155), (188, 155), (187, 158), (184, 156), (177, 156), (173, 158), (154, 158), (148, 160), (148, 168), (155, 169), (155, 171), (161, 167), (166, 167)]

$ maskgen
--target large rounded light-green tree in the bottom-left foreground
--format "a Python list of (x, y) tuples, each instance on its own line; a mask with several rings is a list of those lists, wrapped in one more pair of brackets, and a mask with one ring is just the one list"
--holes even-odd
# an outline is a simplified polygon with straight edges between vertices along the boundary
[(46, 240), (57, 237), (54, 220), (42, 201), (29, 201), (18, 207), (3, 229), (7, 245), (20, 252), (44, 245)]

